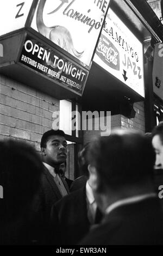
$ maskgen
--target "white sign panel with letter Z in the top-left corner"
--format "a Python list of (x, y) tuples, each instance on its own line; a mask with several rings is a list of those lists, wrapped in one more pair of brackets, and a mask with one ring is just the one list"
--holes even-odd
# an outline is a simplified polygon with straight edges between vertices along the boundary
[(0, 36), (25, 26), (33, 0), (5, 0), (0, 2)]

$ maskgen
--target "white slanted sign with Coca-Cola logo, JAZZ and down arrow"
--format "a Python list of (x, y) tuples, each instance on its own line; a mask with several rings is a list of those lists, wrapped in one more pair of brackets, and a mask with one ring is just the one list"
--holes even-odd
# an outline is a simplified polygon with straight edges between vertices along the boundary
[(111, 9), (93, 61), (145, 97), (143, 45)]

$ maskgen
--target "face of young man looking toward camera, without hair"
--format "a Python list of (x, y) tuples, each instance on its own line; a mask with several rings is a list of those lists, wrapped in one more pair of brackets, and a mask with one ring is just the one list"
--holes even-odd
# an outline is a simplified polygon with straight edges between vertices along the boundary
[(66, 161), (67, 142), (65, 137), (52, 135), (49, 136), (46, 148), (42, 149), (43, 160), (51, 166)]

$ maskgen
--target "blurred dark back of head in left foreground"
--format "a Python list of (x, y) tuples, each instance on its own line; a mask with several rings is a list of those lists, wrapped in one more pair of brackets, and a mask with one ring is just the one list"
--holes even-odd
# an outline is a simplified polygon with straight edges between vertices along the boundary
[(21, 218), (22, 212), (27, 214), (26, 207), (39, 189), (42, 172), (42, 162), (33, 147), (12, 140), (0, 141), (0, 184), (4, 188), (0, 222)]

